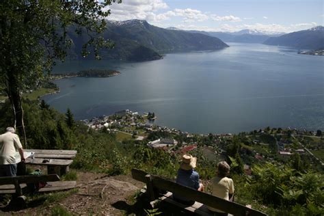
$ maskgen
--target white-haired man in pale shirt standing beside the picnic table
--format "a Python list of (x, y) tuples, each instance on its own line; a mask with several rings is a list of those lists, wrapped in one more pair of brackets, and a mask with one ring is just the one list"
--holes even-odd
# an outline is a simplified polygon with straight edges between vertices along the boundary
[(21, 161), (25, 161), (23, 146), (18, 135), (14, 132), (13, 127), (8, 127), (6, 133), (0, 135), (0, 177), (3, 176), (16, 176), (17, 162), (16, 150), (21, 154)]

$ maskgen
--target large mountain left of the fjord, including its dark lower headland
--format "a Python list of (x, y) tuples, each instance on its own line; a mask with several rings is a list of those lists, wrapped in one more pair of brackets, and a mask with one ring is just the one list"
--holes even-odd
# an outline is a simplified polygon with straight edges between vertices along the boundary
[[(69, 32), (74, 42), (71, 58), (83, 58), (80, 53), (82, 44), (87, 41), (86, 36), (78, 36)], [(210, 51), (224, 49), (227, 44), (211, 36), (201, 33), (174, 31), (150, 25), (146, 21), (108, 21), (104, 38), (115, 42), (114, 49), (101, 51), (103, 59), (118, 59), (125, 61), (148, 61), (161, 59), (165, 53), (178, 51)]]

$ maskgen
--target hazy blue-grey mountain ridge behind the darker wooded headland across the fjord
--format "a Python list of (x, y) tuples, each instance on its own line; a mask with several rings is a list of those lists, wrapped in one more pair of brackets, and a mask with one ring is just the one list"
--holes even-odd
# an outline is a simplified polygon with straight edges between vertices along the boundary
[(123, 38), (134, 40), (159, 53), (216, 50), (228, 47), (218, 38), (163, 29), (141, 20), (109, 22), (107, 27), (108, 32), (119, 33)]

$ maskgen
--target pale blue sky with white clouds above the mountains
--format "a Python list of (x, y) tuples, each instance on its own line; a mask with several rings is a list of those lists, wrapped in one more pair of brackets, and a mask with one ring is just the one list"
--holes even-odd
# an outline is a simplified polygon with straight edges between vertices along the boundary
[(324, 25), (324, 0), (122, 0), (109, 20), (200, 31), (293, 32)]

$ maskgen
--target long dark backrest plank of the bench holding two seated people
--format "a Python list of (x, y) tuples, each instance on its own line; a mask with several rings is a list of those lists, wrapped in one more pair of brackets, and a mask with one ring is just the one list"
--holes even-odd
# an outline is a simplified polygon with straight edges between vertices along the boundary
[(247, 208), (246, 206), (243, 206), (236, 202), (230, 202), (228, 200), (218, 198), (214, 195), (210, 195), (208, 193), (203, 193), (190, 187), (179, 185), (170, 180), (166, 180), (165, 178), (150, 175), (142, 170), (132, 169), (132, 176), (135, 180), (139, 180), (143, 183), (146, 183), (148, 193), (151, 197), (154, 196), (154, 194), (152, 194), (154, 193), (154, 188), (157, 188), (176, 193), (177, 195), (180, 195), (182, 197), (201, 202), (202, 204), (206, 204), (207, 206), (217, 208), (232, 215), (266, 215), (265, 213), (262, 213), (252, 208)]

